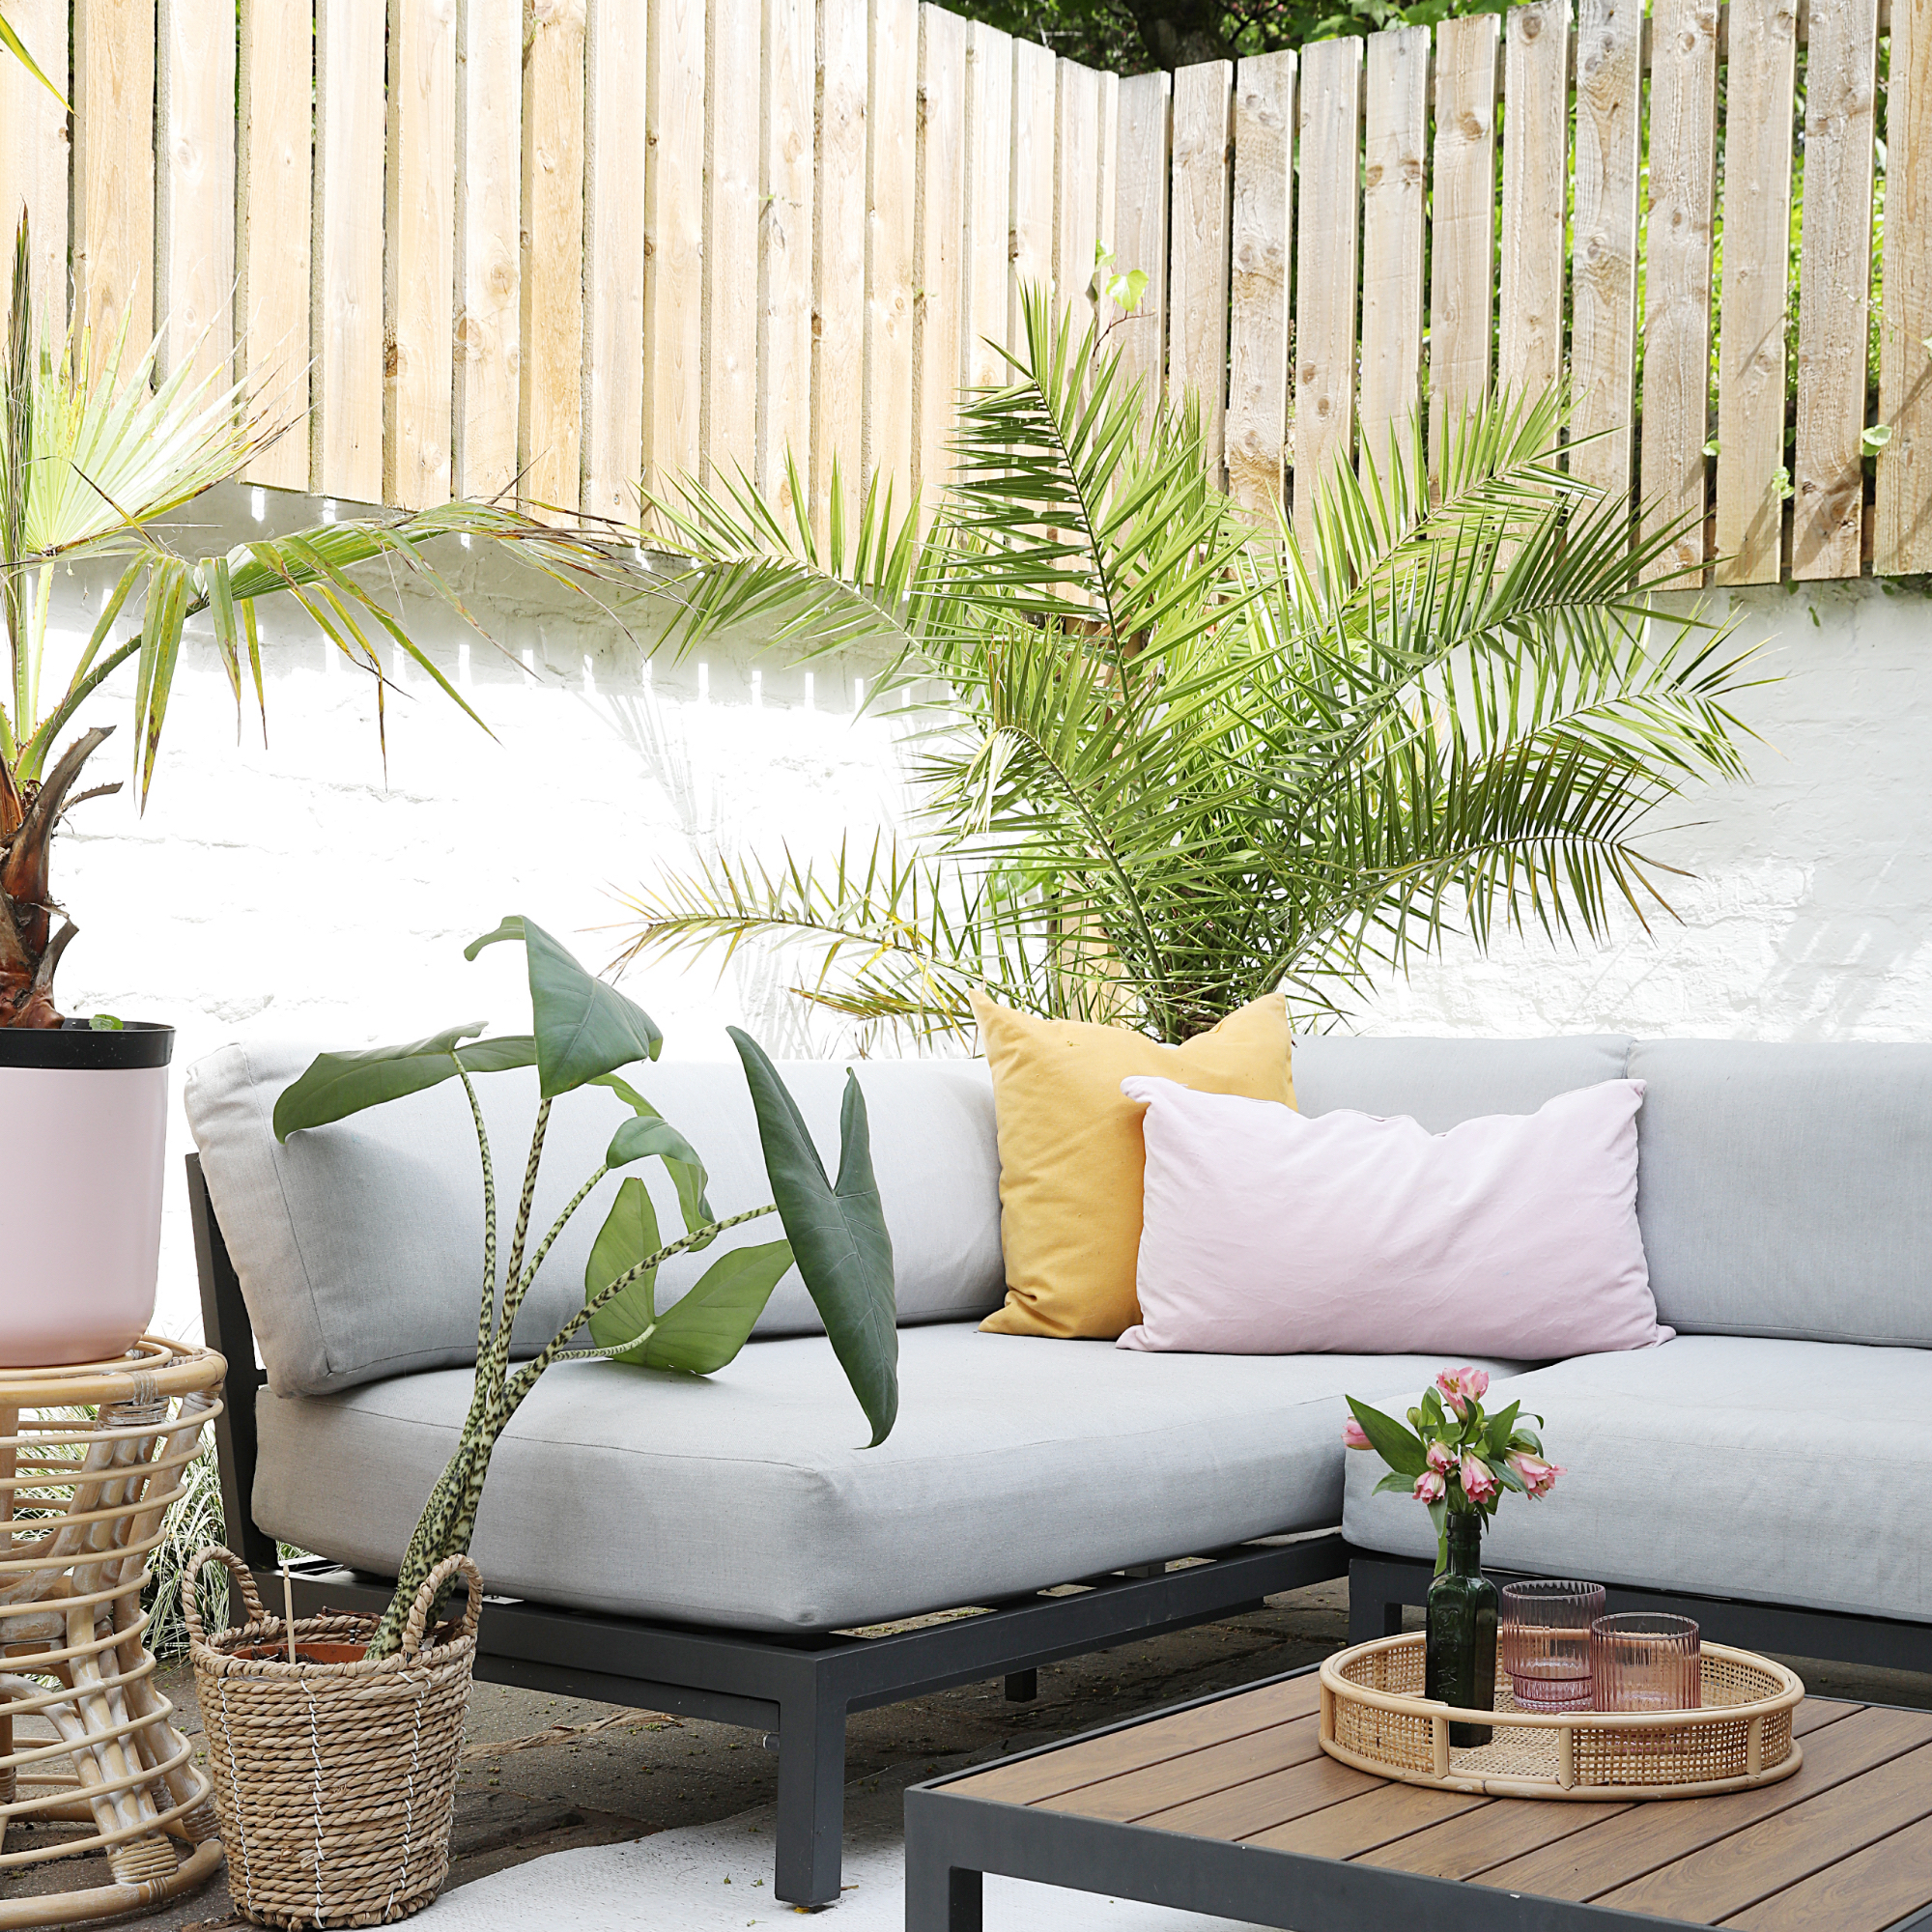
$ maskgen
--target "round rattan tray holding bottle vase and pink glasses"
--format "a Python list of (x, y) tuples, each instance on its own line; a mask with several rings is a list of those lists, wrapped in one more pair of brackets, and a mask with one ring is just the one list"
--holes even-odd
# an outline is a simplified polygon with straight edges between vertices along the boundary
[[(1789, 1777), (1803, 1760), (1791, 1712), (1804, 1685), (1770, 1658), (1704, 1644), (1704, 1704), (1671, 1712), (1517, 1710), (1501, 1677), (1493, 1712), (1422, 1694), (1426, 1638), (1383, 1636), (1321, 1665), (1321, 1748), (1358, 1772), (1507, 1799), (1694, 1799)], [(1501, 1673), (1497, 1673), (1501, 1675)], [(1492, 1741), (1449, 1743), (1449, 1723)]]

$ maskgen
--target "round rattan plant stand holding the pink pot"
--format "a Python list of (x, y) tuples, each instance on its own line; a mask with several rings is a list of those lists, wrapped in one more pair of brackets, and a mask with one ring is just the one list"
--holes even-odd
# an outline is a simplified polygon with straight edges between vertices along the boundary
[(141, 1590), (226, 1374), (211, 1349), (155, 1335), (114, 1362), (0, 1368), (0, 1889), (77, 1853), (112, 1874), (0, 1899), (0, 1932), (139, 1911), (222, 1862)]

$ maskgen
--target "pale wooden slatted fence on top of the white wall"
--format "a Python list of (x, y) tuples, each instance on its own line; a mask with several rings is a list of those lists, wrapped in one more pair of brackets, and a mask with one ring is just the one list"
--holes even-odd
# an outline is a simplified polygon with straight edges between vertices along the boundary
[(8, 0), (75, 118), (0, 64), (0, 209), (43, 303), (280, 390), (270, 485), (630, 516), (790, 446), (819, 500), (835, 452), (931, 489), (1018, 286), (1111, 247), (1115, 340), (1248, 502), (1567, 379), (1573, 468), (1683, 562), (1924, 572), (1932, 0), (1880, 8), (1538, 0), (1121, 79), (918, 0)]

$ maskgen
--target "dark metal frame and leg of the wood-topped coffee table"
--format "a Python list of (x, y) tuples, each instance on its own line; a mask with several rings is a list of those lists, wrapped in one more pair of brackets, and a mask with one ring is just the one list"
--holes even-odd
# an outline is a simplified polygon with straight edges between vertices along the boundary
[[(1157, 1718), (1248, 1696), (1269, 1683), (1306, 1677), (1321, 1665), (1109, 1723), (1082, 1737), (999, 1758), (999, 1766), (1051, 1756)], [(1364, 1932), (1366, 1926), (1426, 1926), (1428, 1932), (1667, 1932), (1685, 1918), (1625, 1913), (1607, 1905), (1503, 1891), (1457, 1878), (1432, 1878), (1350, 1859), (1316, 1859), (1269, 1845), (1192, 1837), (1109, 1818), (1080, 1818), (949, 1787), (989, 1766), (906, 1789), (906, 1932), (983, 1932), (985, 1874), (1028, 1878), (1113, 1899), (1283, 1926), (1291, 1932)], [(1704, 1928), (1700, 1928), (1704, 1932)], [(1932, 1932), (1932, 1907), (1889, 1932)]]

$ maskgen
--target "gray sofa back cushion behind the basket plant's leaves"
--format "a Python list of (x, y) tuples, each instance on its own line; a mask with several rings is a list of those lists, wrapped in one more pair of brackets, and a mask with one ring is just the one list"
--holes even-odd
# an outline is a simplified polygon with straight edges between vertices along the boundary
[[(184, 1095), (269, 1385), (276, 1395), (323, 1395), (475, 1360), (483, 1182), (462, 1086), (448, 1080), (276, 1146), (270, 1130), (276, 1095), (313, 1055), (313, 1047), (301, 1045), (224, 1047), (189, 1068)], [(844, 1068), (794, 1061), (781, 1072), (827, 1173), (837, 1173)], [(1007, 1283), (999, 1250), (999, 1144), (985, 1065), (866, 1061), (858, 1078), (893, 1233), (900, 1321), (991, 1312)], [(703, 1157), (717, 1213), (771, 1200), (757, 1121), (736, 1061), (634, 1068), (632, 1084)], [(477, 1080), (477, 1092), (506, 1248), (537, 1082), (531, 1070), (491, 1074)], [(611, 1134), (628, 1117), (630, 1109), (603, 1088), (556, 1101), (531, 1244), (595, 1171)], [(643, 1179), (665, 1238), (676, 1238), (682, 1223), (663, 1167), (645, 1161), (624, 1173)], [(583, 1267), (620, 1179), (605, 1179), (551, 1248), (516, 1325), (518, 1354), (541, 1349), (583, 1304)], [(763, 1217), (719, 1236), (701, 1254), (665, 1264), (659, 1308), (728, 1248), (779, 1236), (777, 1219)], [(819, 1327), (794, 1269), (779, 1283), (757, 1333), (808, 1335)]]

